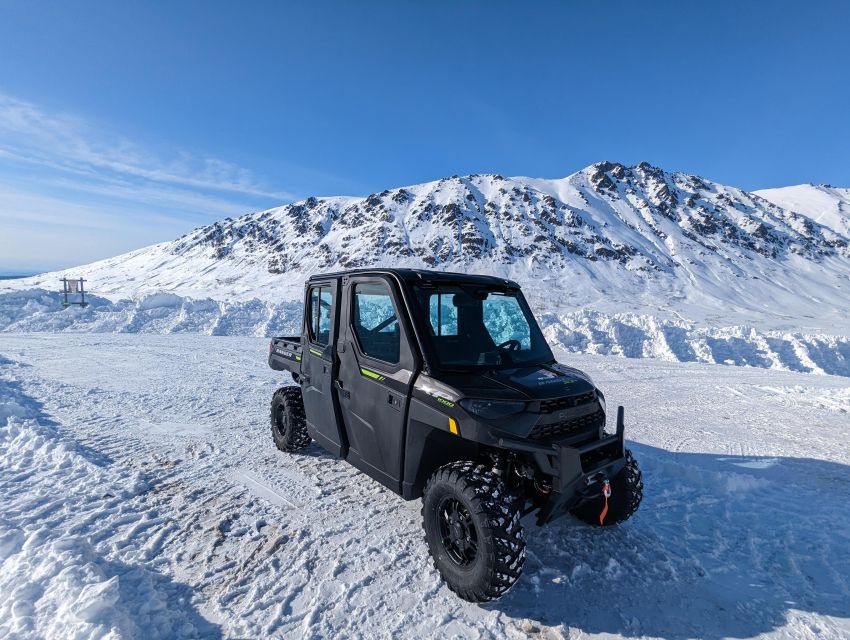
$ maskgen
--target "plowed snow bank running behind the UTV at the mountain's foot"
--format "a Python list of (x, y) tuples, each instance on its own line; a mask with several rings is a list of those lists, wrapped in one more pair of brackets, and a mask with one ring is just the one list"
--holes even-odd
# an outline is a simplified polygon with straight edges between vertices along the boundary
[[(540, 316), (550, 344), (565, 351), (705, 362), (850, 376), (850, 337), (701, 327), (684, 320), (582, 310)], [(138, 300), (92, 298), (85, 309), (62, 308), (43, 289), (0, 293), (0, 331), (200, 333), (265, 337), (300, 330), (301, 303), (224, 302), (154, 293)]]

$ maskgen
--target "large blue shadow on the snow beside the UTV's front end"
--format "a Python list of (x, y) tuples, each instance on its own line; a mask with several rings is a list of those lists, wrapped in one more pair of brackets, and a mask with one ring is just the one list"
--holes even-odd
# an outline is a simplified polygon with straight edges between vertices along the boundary
[(850, 467), (629, 446), (646, 486), (638, 513), (610, 529), (531, 519), (523, 578), (486, 609), (671, 640), (850, 617)]

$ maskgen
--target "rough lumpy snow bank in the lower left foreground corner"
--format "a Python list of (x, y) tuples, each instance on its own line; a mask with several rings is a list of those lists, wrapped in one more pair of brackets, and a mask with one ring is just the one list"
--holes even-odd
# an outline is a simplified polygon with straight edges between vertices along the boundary
[(0, 358), (0, 637), (203, 635), (185, 585), (109, 558), (108, 548), (68, 526), (138, 494), (138, 474), (88, 460), (41, 415), (14, 371)]

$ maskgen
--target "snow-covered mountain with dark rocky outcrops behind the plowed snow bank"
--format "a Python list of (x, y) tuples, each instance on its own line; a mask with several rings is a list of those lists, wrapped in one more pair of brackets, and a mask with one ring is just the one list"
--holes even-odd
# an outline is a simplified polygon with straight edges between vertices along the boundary
[[(540, 311), (843, 333), (844, 201), (818, 215), (813, 198), (797, 206), (775, 191), (645, 162), (601, 162), (558, 180), (452, 176), (365, 198), (308, 198), (65, 273), (113, 299), (167, 291), (277, 303), (298, 299), (315, 272), (403, 265), (514, 278)], [(54, 289), (61, 275), (9, 286)]]

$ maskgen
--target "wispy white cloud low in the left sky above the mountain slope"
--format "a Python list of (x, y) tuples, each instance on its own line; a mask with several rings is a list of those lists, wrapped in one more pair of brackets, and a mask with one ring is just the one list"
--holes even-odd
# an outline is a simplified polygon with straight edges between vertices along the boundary
[(295, 198), (225, 160), (0, 93), (0, 269), (91, 262)]

